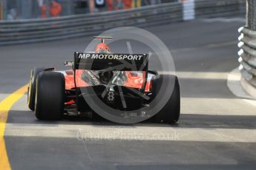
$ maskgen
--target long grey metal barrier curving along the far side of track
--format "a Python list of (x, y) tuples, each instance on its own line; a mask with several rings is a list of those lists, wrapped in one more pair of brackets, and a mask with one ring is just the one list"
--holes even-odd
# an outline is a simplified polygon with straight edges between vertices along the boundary
[[(184, 2), (186, 3), (186, 2)], [(0, 22), (0, 45), (52, 41), (95, 35), (119, 26), (148, 27), (188, 18), (236, 16), (245, 13), (243, 0), (197, 0), (191, 10), (182, 2), (157, 4), (132, 10), (91, 13), (59, 18)], [(184, 9), (186, 9), (184, 11)]]

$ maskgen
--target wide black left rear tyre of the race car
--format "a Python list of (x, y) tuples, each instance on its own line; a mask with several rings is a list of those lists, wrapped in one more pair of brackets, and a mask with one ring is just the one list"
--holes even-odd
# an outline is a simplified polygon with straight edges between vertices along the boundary
[(39, 120), (59, 120), (63, 117), (65, 78), (59, 72), (40, 72), (36, 79), (35, 114)]

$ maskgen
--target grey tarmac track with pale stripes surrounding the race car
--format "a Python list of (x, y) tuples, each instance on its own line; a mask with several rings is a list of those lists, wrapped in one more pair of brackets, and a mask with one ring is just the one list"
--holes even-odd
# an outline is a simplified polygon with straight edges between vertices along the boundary
[[(243, 20), (196, 20), (149, 27), (171, 51), (181, 88), (175, 125), (66, 118), (36, 120), (26, 95), (4, 132), (12, 169), (256, 169), (256, 106), (226, 85)], [(0, 101), (27, 84), (33, 67), (62, 67), (91, 37), (0, 47)], [(134, 52), (148, 48), (131, 41)], [(114, 52), (127, 52), (125, 43)], [(152, 59), (153, 60), (153, 59)], [(151, 61), (149, 61), (151, 63)], [(152, 67), (152, 66), (150, 66)], [(251, 99), (249, 99), (251, 100)]]

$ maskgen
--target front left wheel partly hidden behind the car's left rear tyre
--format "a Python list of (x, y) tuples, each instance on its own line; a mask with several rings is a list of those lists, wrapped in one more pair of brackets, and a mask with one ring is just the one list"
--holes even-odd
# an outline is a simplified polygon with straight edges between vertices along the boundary
[(36, 98), (36, 78), (39, 72), (44, 71), (43, 67), (34, 67), (30, 72), (30, 86), (27, 89), (27, 106), (30, 110), (35, 110), (35, 98)]

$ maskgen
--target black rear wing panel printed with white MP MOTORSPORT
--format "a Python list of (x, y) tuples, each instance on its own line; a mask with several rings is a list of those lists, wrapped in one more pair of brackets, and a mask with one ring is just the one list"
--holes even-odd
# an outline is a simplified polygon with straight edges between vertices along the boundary
[(75, 52), (74, 69), (148, 71), (148, 55)]

